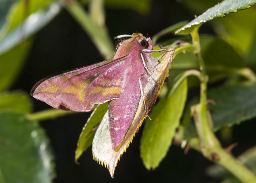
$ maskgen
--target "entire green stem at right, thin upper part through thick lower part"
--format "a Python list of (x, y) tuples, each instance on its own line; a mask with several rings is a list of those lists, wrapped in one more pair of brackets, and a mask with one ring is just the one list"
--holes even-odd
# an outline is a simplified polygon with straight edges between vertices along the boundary
[(196, 131), (198, 134), (202, 154), (211, 161), (220, 164), (228, 171), (233, 173), (238, 179), (244, 183), (256, 182), (255, 175), (249, 171), (245, 166), (239, 164), (236, 159), (228, 154), (222, 147), (219, 140), (212, 132), (212, 116), (207, 108), (207, 82), (208, 76), (206, 75), (206, 67), (204, 60), (200, 53), (200, 42), (198, 35), (198, 28), (192, 33), (192, 41), (196, 46), (194, 53), (196, 54), (200, 71), (201, 71), (201, 84), (200, 84), (200, 103), (191, 107), (194, 114)]

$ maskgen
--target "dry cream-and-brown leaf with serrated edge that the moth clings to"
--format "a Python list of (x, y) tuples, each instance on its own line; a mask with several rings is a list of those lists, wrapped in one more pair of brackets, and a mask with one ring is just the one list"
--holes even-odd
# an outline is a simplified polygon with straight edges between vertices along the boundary
[[(162, 83), (166, 76), (168, 76), (168, 71), (171, 68), (173, 49), (171, 48), (164, 54), (162, 61), (156, 65), (155, 68), (152, 68), (151, 74), (154, 79)], [(146, 111), (150, 110), (153, 103), (156, 101), (156, 98), (161, 90), (163, 84), (156, 83), (152, 77), (148, 77), (148, 82), (144, 86), (145, 94), (145, 103)], [(122, 143), (116, 148), (115, 151), (112, 150), (112, 143), (110, 138), (110, 132), (108, 130), (108, 112), (105, 114), (103, 120), (100, 123), (99, 128), (97, 129), (93, 142), (92, 142), (92, 154), (93, 158), (99, 162), (101, 165), (104, 165), (108, 168), (110, 176), (113, 178), (116, 165), (120, 156), (126, 151), (132, 138), (135, 136), (135, 133), (139, 130), (144, 118), (145, 107), (143, 97), (140, 97), (140, 102), (138, 110), (135, 114), (135, 117), (132, 121), (132, 124), (125, 134), (125, 138)], [(154, 119), (152, 119), (154, 120)], [(153, 122), (152, 122), (153, 123)]]

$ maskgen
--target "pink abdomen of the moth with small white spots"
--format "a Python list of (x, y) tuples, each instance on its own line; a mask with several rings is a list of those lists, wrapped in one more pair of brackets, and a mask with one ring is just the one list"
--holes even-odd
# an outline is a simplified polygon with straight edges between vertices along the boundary
[(137, 111), (141, 97), (139, 78), (141, 78), (142, 86), (147, 83), (148, 79), (143, 65), (142, 68), (136, 68), (136, 72), (128, 68), (124, 77), (119, 98), (108, 103), (109, 132), (113, 150), (116, 150), (124, 140)]

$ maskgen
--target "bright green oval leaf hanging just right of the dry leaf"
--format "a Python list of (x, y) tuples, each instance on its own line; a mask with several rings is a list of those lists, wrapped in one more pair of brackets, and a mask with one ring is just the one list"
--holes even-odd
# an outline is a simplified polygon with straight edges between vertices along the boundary
[(155, 169), (167, 154), (180, 123), (187, 90), (187, 79), (184, 79), (174, 92), (169, 92), (167, 97), (157, 104), (151, 114), (152, 122), (146, 123), (141, 138), (140, 154), (147, 169)]

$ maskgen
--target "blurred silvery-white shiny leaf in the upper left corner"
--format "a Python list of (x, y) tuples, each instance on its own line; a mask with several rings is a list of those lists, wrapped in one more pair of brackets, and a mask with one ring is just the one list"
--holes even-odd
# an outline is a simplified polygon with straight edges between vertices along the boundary
[(7, 52), (35, 34), (49, 23), (60, 12), (60, 9), (59, 3), (52, 3), (48, 8), (41, 9), (28, 16), (22, 24), (13, 28), (9, 34), (4, 34), (4, 37), (0, 39), (0, 54)]

